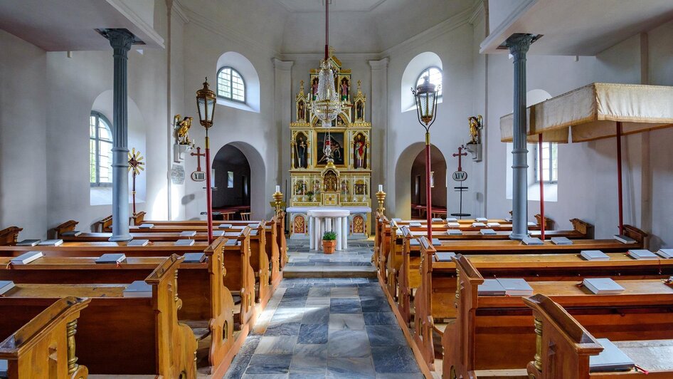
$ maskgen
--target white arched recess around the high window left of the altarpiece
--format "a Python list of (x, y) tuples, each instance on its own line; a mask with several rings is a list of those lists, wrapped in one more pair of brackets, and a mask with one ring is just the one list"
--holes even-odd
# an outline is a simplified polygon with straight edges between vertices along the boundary
[[(217, 98), (217, 103), (232, 108), (248, 110), (249, 112), (260, 113), (260, 76), (257, 70), (255, 70), (253, 63), (240, 53), (228, 51), (218, 58), (215, 68), (216, 72), (226, 66), (235, 68), (240, 73), (240, 76), (243, 76), (243, 81), (245, 82), (245, 103), (219, 97)], [(215, 83), (217, 83), (217, 78), (215, 79)], [(213, 88), (213, 90), (215, 89)]]

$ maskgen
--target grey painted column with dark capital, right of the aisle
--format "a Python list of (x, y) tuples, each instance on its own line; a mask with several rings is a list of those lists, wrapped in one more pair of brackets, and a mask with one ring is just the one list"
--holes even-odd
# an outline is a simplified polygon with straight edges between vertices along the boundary
[(507, 39), (514, 57), (514, 148), (512, 149), (512, 234), (511, 239), (528, 235), (528, 149), (526, 149), (526, 53), (531, 46), (530, 34)]

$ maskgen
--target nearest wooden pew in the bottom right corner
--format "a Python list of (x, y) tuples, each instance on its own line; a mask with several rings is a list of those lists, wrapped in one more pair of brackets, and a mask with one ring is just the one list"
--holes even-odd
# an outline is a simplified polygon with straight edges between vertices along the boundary
[(673, 378), (673, 340), (613, 341), (647, 373), (638, 369), (590, 373), (590, 355), (603, 351), (596, 338), (551, 298), (535, 295), (522, 300), (533, 309), (536, 333), (536, 353), (527, 367), (529, 378)]

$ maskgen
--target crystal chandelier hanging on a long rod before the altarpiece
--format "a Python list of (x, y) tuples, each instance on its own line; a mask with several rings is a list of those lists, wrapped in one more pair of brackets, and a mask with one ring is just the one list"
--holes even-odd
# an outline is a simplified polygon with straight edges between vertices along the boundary
[(322, 122), (323, 128), (332, 126), (332, 121), (341, 112), (339, 93), (334, 87), (336, 72), (329, 62), (329, 0), (325, 1), (325, 58), (320, 62), (317, 98), (312, 102), (312, 112)]

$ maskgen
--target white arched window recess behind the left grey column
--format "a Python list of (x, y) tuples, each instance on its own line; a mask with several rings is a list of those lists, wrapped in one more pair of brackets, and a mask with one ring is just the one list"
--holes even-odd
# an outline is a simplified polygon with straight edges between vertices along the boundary
[[(112, 120), (112, 90), (106, 90), (100, 93), (93, 101), (91, 105), (91, 110), (105, 115), (105, 117), (110, 120), (110, 123), (115, 123), (115, 120)], [(128, 102), (128, 147), (129, 151), (135, 147), (136, 150), (140, 150), (143, 156), (146, 156), (147, 153), (147, 144), (145, 143), (145, 120), (142, 117), (140, 108), (133, 101), (132, 98), (127, 97)], [(87, 121), (86, 125), (89, 125)], [(112, 125), (110, 125), (112, 128)], [(114, 131), (112, 132), (114, 134)], [(88, 175), (87, 175), (88, 176)], [(136, 178), (136, 204), (138, 204), (138, 209), (143, 209), (139, 204), (145, 202), (147, 194), (147, 175), (139, 175)], [(129, 201), (131, 194), (131, 185), (132, 182), (129, 179)], [(100, 188), (92, 189), (90, 191), (90, 205), (104, 205), (112, 204), (112, 188)]]

